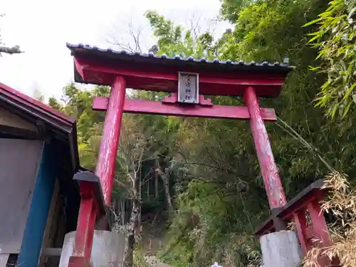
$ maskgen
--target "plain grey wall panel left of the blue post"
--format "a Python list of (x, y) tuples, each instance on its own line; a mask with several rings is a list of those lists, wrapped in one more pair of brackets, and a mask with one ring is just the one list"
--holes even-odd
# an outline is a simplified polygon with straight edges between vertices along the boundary
[(0, 139), (1, 253), (20, 251), (42, 150), (43, 141)]

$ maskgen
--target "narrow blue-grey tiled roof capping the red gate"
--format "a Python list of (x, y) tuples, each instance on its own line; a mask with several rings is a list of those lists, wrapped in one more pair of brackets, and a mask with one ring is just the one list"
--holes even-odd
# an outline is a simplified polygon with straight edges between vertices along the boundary
[[(181, 56), (167, 56), (167, 55), (155, 55), (154, 53), (130, 53), (127, 51), (116, 51), (111, 48), (98, 48), (96, 46), (89, 46), (88, 44), (70, 44), (67, 43), (67, 47), (70, 49), (73, 56), (77, 56), (78, 54), (83, 54), (83, 56), (100, 56), (100, 58), (112, 58), (117, 60), (131, 60), (137, 61), (137, 63), (169, 63), (169, 65), (174, 64), (177, 66), (181, 66), (182, 63), (187, 66), (189, 65), (197, 65), (201, 66), (201, 64), (206, 67), (212, 68), (231, 68), (233, 69), (243, 69), (243, 70), (254, 70), (254, 71), (268, 71), (273, 70), (273, 72), (282, 72), (288, 73), (290, 70), (295, 68), (294, 66), (290, 66), (288, 63), (268, 63), (264, 61), (262, 63), (256, 63), (255, 61), (245, 62), (245, 61), (221, 61), (219, 58), (215, 58), (213, 61), (209, 61), (206, 58), (193, 58), (189, 56), (189, 58), (182, 58)], [(214, 67), (213, 67), (214, 66)], [(230, 67), (229, 67), (230, 66)]]

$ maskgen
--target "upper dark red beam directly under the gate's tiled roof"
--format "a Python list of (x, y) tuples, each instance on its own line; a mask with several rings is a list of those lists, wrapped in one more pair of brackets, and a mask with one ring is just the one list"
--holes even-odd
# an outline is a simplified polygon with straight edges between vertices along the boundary
[(75, 68), (82, 82), (111, 85), (117, 75), (125, 78), (127, 88), (177, 92), (178, 72), (199, 72), (199, 90), (202, 95), (244, 95), (247, 86), (253, 85), (257, 95), (276, 97), (281, 93), (286, 74), (200, 71), (173, 66), (144, 66), (125, 63), (125, 66), (83, 58), (75, 58)]

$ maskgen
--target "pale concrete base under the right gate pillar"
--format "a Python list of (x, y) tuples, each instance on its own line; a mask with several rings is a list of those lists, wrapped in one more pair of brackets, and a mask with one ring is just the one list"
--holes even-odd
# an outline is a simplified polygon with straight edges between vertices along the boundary
[(279, 231), (261, 236), (264, 267), (297, 267), (302, 251), (294, 231)]

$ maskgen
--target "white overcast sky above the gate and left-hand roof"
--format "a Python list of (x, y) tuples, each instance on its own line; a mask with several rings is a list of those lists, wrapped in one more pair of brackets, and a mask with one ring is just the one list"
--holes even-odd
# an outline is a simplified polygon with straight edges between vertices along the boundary
[(216, 36), (231, 27), (226, 22), (207, 23), (218, 16), (219, 0), (0, 0), (0, 14), (6, 14), (0, 18), (2, 41), (25, 51), (3, 54), (0, 83), (31, 96), (37, 88), (46, 98), (59, 98), (63, 86), (73, 80), (73, 58), (66, 42), (107, 48), (110, 33), (131, 42), (126, 33), (131, 21), (134, 30), (144, 28), (142, 50), (146, 50), (155, 43), (143, 16), (148, 9), (185, 25), (195, 16), (204, 29), (215, 29)]

